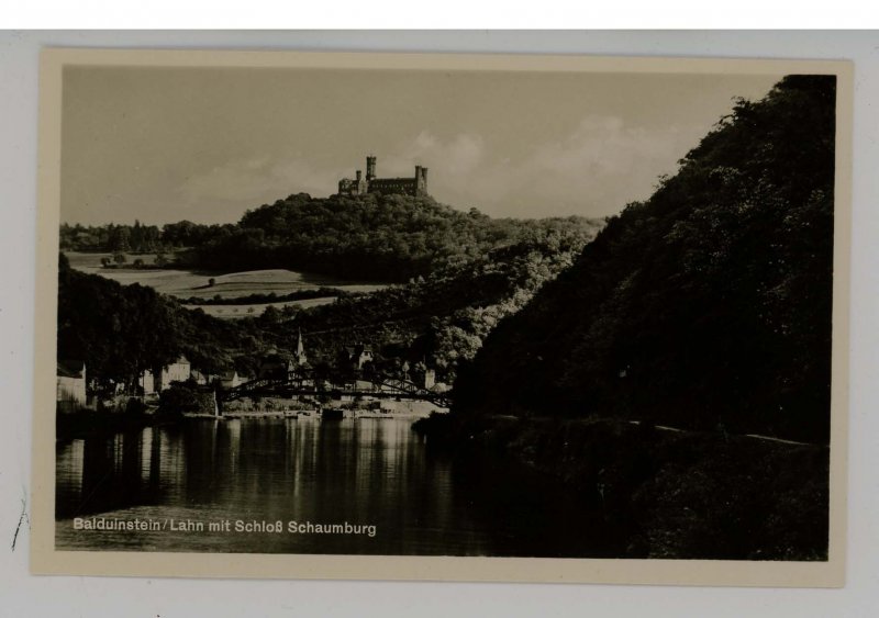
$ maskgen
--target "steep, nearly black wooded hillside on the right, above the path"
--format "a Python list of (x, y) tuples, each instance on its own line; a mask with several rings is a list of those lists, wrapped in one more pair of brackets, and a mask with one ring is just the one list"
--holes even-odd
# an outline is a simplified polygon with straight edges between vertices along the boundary
[(489, 334), (456, 413), (830, 432), (835, 78), (739, 101)]

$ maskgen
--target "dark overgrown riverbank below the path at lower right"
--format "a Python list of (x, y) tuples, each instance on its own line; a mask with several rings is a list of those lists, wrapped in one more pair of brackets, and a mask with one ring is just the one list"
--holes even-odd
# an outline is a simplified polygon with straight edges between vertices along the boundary
[(625, 558), (826, 560), (827, 447), (615, 419), (418, 422), (435, 448), (505, 453), (560, 479), (626, 537)]

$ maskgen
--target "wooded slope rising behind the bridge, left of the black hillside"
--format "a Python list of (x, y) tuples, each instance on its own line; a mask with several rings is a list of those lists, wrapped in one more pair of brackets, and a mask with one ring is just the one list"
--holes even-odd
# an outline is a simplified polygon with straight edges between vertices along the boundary
[(314, 362), (331, 361), (343, 346), (363, 341), (376, 350), (375, 369), (424, 362), (437, 380), (452, 383), (458, 364), (472, 359), (491, 328), (571, 263), (585, 240), (568, 232), (535, 236), (405, 285), (342, 297), (301, 312), (279, 329), (287, 329), (286, 340), (301, 330)]

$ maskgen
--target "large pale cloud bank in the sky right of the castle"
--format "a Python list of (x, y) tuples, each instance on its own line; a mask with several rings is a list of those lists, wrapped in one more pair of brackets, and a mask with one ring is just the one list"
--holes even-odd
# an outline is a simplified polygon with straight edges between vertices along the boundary
[[(514, 131), (514, 127), (511, 127)], [(476, 205), (498, 216), (619, 212), (646, 199), (657, 178), (674, 173), (692, 146), (676, 125), (644, 128), (617, 116), (588, 115), (569, 133), (513, 157), (476, 133), (441, 138), (422, 131), (378, 161), (378, 175), (409, 176), (413, 165), (432, 170), (431, 192), (441, 201)]]

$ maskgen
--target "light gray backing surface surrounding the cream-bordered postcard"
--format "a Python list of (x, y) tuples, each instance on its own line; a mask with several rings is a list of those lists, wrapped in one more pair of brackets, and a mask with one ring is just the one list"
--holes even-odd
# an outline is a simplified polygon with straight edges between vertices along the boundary
[[(836, 591), (659, 586), (237, 582), (33, 577), (29, 491), (43, 45), (424, 50), (852, 59), (855, 178), (847, 586)], [(2, 32), (0, 33), (0, 616), (874, 616), (879, 603), (879, 33), (875, 32)], [(26, 509), (25, 509), (26, 513)], [(231, 561), (235, 560), (230, 555)]]

